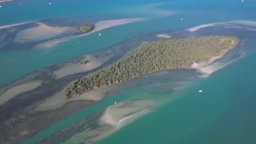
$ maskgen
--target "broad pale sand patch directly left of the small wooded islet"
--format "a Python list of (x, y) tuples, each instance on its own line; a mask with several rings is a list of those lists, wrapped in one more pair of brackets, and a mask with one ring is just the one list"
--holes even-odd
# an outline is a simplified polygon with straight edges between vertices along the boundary
[(72, 30), (74, 31), (74, 29), (71, 27), (51, 27), (41, 22), (37, 22), (37, 24), (39, 26), (20, 31), (16, 35), (14, 42), (29, 43), (33, 41), (54, 38), (59, 34), (71, 32)]

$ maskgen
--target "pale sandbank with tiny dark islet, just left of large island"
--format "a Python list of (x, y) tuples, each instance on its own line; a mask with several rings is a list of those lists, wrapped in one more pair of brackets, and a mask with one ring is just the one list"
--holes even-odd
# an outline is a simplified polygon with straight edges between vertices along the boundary
[(56, 76), (56, 79), (60, 79), (61, 77), (77, 73), (83, 73), (85, 71), (95, 69), (103, 64), (103, 62), (100, 61), (100, 59), (96, 59), (92, 56), (88, 56), (88, 58), (84, 59), (84, 61), (85, 60), (89, 60), (90, 62), (87, 64), (68, 63), (65, 65), (65, 67), (62, 67), (54, 71), (53, 74)]

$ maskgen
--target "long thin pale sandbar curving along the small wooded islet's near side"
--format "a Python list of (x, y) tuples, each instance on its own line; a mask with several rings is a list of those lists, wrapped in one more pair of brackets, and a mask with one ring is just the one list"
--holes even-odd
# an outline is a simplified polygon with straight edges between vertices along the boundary
[[(80, 35), (71, 35), (71, 36), (68, 36), (68, 37), (49, 40), (49, 41), (46, 41), (45, 43), (41, 43), (41, 44), (38, 44), (38, 45), (34, 46), (33, 49), (42, 49), (42, 48), (54, 47), (54, 46), (59, 45), (61, 43), (65, 43), (68, 40), (79, 38), (79, 37), (84, 37), (85, 35), (89, 35), (91, 33), (102, 31), (103, 29), (106, 29), (106, 28), (119, 26), (119, 25), (125, 25), (127, 23), (141, 21), (141, 20), (145, 20), (145, 19), (143, 19), (143, 18), (127, 18), (127, 19), (118, 19), (118, 20), (99, 21), (99, 22), (95, 23), (95, 28), (89, 33), (84, 33), (84, 34), (80, 34)], [(102, 37), (103, 37), (103, 35), (102, 35)]]

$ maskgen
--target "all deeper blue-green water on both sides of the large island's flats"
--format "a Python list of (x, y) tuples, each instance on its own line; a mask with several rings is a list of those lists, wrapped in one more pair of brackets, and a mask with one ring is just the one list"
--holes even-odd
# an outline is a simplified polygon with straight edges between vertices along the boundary
[[(253, 0), (244, 2), (239, 0), (17, 0), (1, 2), (0, 5), (2, 6), (0, 27), (28, 21), (72, 22), (82, 19), (93, 22), (130, 17), (146, 18), (104, 29), (100, 31), (101, 37), (98, 37), (96, 32), (49, 49), (0, 47), (0, 87), (48, 65), (101, 50), (133, 35), (177, 31), (206, 23), (256, 21), (256, 1)], [(3, 29), (0, 29), (1, 31)], [(13, 39), (10, 38), (9, 41), (11, 40)], [(82, 43), (78, 45), (77, 41)], [(256, 43), (246, 46), (249, 50), (242, 58), (207, 77), (182, 80), (183, 83), (187, 83), (186, 86), (172, 94), (149, 91), (156, 87), (174, 85), (171, 81), (161, 85), (128, 89), (74, 113), (39, 131), (23, 143), (42, 141), (69, 125), (106, 109), (115, 100), (119, 102), (138, 97), (159, 98), (161, 104), (152, 112), (134, 119), (115, 133), (95, 143), (254, 144), (256, 143)], [(199, 93), (201, 89), (203, 92)]]

